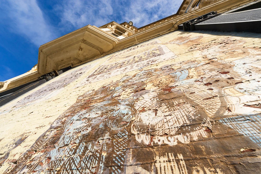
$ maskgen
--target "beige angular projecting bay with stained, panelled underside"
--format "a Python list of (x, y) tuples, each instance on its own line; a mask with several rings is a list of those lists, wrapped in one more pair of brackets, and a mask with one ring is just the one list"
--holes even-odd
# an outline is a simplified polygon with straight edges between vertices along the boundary
[(114, 49), (118, 40), (102, 29), (88, 25), (41, 45), (38, 72), (46, 74), (69, 66), (75, 67)]

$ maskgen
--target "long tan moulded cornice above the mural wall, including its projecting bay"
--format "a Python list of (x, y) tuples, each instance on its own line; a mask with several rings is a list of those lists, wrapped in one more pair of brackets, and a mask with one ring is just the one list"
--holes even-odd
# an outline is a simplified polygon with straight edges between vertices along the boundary
[[(134, 35), (119, 39), (103, 31), (101, 28), (87, 25), (41, 45), (39, 47), (37, 71), (31, 73), (29, 71), (29, 73), (27, 72), (5, 81), (0, 91), (5, 91), (27, 82), (34, 81), (41, 75), (52, 71), (60, 70), (69, 66), (75, 67), (113, 52), (120, 51), (129, 46), (173, 32), (178, 29), (178, 25), (193, 19), (196, 15), (204, 15), (211, 11), (224, 13), (254, 1), (256, 0), (221, 0), (185, 14), (169, 16), (163, 20), (138, 28), (138, 32), (135, 33), (137, 42)], [(111, 23), (120, 25), (114, 21)], [(126, 30), (127, 29), (128, 28), (126, 28)]]

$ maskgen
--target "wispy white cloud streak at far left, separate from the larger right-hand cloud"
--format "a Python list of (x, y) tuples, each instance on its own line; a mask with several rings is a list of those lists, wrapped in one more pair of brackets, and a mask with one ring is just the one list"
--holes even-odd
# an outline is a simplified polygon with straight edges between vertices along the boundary
[(1, 3), (2, 23), (8, 25), (11, 32), (20, 34), (37, 46), (56, 38), (44, 19), (36, 0), (9, 0)]

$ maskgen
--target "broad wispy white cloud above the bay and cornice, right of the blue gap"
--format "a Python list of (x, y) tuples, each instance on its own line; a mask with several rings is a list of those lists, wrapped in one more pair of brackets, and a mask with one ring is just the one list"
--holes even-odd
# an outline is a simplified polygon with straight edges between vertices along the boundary
[(56, 10), (60, 13), (60, 26), (77, 29), (88, 24), (99, 27), (111, 21), (132, 20), (135, 26), (141, 27), (175, 14), (182, 1), (66, 0), (57, 5)]

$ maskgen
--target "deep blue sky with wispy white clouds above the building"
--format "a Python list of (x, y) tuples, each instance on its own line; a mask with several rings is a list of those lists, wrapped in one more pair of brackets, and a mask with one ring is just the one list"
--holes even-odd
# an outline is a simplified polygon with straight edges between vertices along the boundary
[(2, 0), (0, 2), (0, 81), (30, 70), (38, 49), (84, 27), (133, 21), (142, 27), (175, 14), (183, 0)]

